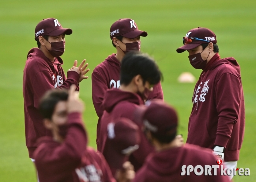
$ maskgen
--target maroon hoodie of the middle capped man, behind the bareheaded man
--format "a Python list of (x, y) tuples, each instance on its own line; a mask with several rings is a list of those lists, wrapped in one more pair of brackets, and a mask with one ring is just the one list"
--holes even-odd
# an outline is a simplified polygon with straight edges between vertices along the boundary
[[(102, 101), (105, 91), (120, 87), (121, 63), (115, 55), (109, 55), (105, 61), (95, 67), (91, 74), (93, 104), (99, 120), (104, 111)], [(153, 98), (163, 99), (163, 90), (160, 82), (154, 86), (154, 90), (150, 93), (148, 100)]]

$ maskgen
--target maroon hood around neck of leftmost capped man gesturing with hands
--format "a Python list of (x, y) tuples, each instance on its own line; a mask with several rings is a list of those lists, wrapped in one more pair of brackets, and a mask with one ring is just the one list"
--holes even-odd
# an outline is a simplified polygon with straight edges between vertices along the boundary
[[(52, 65), (50, 59), (48, 59), (48, 58), (44, 55), (44, 53), (43, 53), (40, 49), (38, 49), (38, 48), (36, 48), (36, 47), (32, 48), (32, 49), (29, 51), (29, 53), (27, 53), (27, 59), (31, 59), (31, 58), (33, 58), (33, 57), (40, 57), (40, 58), (43, 58), (48, 64)], [(53, 64), (63, 65), (63, 60), (62, 60), (60, 57), (57, 57), (57, 58), (54, 59)]]

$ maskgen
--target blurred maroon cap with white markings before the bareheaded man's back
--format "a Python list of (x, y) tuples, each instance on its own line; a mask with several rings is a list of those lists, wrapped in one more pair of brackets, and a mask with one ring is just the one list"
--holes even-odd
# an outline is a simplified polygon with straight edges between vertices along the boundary
[(103, 155), (110, 168), (121, 169), (128, 156), (139, 148), (139, 127), (127, 118), (108, 124), (108, 138)]

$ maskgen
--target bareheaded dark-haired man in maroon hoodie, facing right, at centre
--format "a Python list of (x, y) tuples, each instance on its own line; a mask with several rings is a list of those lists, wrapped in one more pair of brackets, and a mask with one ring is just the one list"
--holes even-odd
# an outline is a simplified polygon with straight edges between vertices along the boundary
[[(131, 52), (125, 55), (121, 63), (120, 88), (107, 90), (103, 101), (105, 111), (98, 124), (97, 148), (100, 152), (103, 152), (106, 147), (107, 126), (115, 119), (128, 118), (134, 121), (139, 129), (141, 128), (141, 123), (135, 120), (134, 110), (144, 104), (142, 100), (144, 93), (152, 91), (153, 86), (159, 83), (161, 77), (161, 71), (155, 61), (147, 54)], [(142, 166), (146, 156), (154, 151), (142, 131), (140, 131), (140, 139), (139, 149), (129, 157), (135, 171)]]

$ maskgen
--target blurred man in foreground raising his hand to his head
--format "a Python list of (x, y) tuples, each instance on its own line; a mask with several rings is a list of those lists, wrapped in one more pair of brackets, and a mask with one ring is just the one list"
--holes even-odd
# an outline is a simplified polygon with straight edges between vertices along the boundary
[[(115, 182), (103, 155), (87, 147), (84, 104), (75, 89), (50, 90), (40, 102), (43, 123), (53, 136), (38, 139), (34, 156), (39, 181)], [(126, 180), (126, 170), (121, 172), (117, 178)]]

